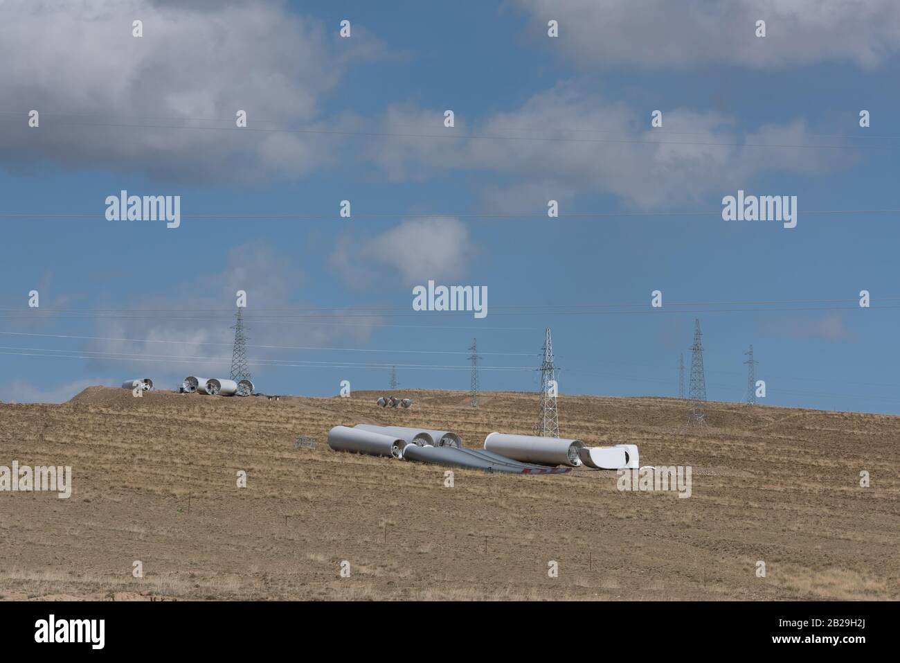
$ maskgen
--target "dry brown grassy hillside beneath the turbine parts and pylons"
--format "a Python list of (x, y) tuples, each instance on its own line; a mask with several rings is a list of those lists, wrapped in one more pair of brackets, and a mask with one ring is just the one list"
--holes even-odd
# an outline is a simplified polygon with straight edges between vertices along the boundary
[[(75, 484), (67, 500), (0, 493), (0, 596), (900, 598), (900, 417), (717, 403), (698, 433), (681, 401), (560, 397), (563, 435), (692, 466), (679, 499), (583, 468), (455, 470), (450, 488), (444, 468), (329, 450), (337, 424), (447, 428), (479, 446), (536, 418), (533, 394), (484, 394), (477, 410), (458, 392), (402, 395), (410, 410), (364, 392), (270, 402), (104, 387), (0, 404), (0, 465), (70, 465)], [(295, 448), (299, 435), (316, 448)]]

